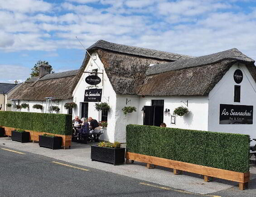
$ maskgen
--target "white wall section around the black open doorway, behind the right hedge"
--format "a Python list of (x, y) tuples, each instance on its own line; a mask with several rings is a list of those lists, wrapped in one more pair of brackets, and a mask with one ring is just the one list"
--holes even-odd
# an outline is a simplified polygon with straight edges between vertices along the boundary
[[(208, 130), (208, 97), (207, 96), (145, 96), (140, 97), (138, 110), (138, 124), (143, 125), (143, 106), (151, 106), (151, 100), (164, 100), (164, 111), (169, 109), (170, 113), (164, 115), (164, 123), (167, 127)], [(171, 115), (175, 108), (179, 106), (187, 107), (184, 103), (188, 100), (189, 113), (184, 116), (177, 116), (175, 124), (171, 124)], [(181, 102), (181, 101), (184, 101)]]

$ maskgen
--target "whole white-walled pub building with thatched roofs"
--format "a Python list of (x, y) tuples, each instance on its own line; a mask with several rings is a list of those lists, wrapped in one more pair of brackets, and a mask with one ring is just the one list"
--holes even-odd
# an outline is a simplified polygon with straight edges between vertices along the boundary
[[(99, 40), (87, 51), (79, 70), (26, 81), (12, 99), (45, 107), (45, 98), (53, 97), (58, 113), (107, 121), (100, 139), (111, 142), (126, 142), (128, 124), (162, 122), (167, 127), (256, 138), (255, 61), (238, 49), (192, 57)], [(65, 110), (65, 102), (77, 107)], [(110, 110), (97, 111), (98, 102), (108, 103)], [(124, 115), (125, 106), (137, 110)], [(179, 106), (187, 107), (188, 114), (174, 115)]]

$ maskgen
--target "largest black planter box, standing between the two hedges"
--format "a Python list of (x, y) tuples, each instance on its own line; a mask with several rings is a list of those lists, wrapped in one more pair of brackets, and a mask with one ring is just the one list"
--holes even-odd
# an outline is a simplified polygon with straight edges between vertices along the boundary
[(116, 165), (125, 162), (125, 152), (125, 148), (114, 149), (93, 145), (91, 146), (91, 159)]

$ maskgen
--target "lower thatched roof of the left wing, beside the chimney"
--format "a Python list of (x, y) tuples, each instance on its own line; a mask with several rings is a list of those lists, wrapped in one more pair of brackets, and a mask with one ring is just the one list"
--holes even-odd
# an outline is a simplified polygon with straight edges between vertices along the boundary
[(70, 88), (79, 70), (47, 74), (43, 77), (33, 77), (20, 85), (10, 99), (45, 101), (45, 97), (56, 100), (72, 99)]

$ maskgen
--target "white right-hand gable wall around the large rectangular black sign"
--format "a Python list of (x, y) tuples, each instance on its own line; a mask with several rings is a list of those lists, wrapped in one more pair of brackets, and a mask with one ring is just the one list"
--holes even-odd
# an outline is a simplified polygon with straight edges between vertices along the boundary
[[(240, 69), (243, 73), (243, 80), (240, 84), (234, 81), (233, 75), (235, 70)], [(234, 86), (241, 86), (241, 102), (234, 102)], [(222, 77), (209, 93), (209, 121), (208, 130), (223, 131), (227, 133), (247, 134), (251, 138), (256, 138), (256, 114), (253, 115), (252, 125), (220, 125), (219, 124), (219, 110), (220, 104), (229, 105), (246, 105), (253, 106), (256, 110), (256, 83), (251, 77), (250, 72), (244, 64), (234, 64)], [(251, 144), (255, 144), (253, 141)]]

